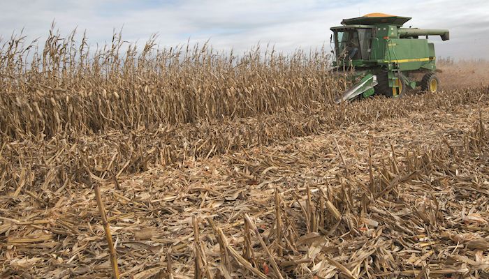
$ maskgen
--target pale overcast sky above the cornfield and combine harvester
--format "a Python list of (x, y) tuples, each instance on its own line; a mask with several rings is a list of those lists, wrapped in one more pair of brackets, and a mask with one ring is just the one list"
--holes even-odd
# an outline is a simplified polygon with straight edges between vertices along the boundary
[(407, 25), (450, 29), (451, 40), (436, 41), (437, 56), (489, 59), (489, 0), (2, 0), (0, 36), (24, 29), (43, 38), (54, 20), (63, 34), (78, 27), (89, 43), (104, 43), (113, 29), (144, 43), (152, 33), (161, 45), (205, 42), (218, 50), (242, 52), (258, 42), (291, 52), (329, 45), (330, 27), (367, 13), (413, 17)]

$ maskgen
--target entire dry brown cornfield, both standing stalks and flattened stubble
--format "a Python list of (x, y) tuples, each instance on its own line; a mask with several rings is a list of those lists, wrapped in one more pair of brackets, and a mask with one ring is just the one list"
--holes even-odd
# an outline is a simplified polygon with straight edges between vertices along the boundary
[(324, 50), (23, 40), (0, 49), (0, 277), (489, 276), (489, 88), (333, 105)]

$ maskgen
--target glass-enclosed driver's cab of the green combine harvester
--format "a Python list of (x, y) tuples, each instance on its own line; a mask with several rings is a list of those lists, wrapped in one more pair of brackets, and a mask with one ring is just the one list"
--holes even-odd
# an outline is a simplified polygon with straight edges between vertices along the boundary
[(337, 59), (369, 59), (372, 29), (346, 29), (335, 32)]

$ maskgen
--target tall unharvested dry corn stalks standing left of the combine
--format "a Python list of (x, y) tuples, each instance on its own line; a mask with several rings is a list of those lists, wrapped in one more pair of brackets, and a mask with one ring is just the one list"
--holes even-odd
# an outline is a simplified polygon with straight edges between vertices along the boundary
[(323, 49), (256, 47), (238, 57), (207, 45), (159, 50), (154, 38), (143, 50), (123, 47), (117, 34), (93, 52), (74, 32), (51, 32), (43, 50), (8, 40), (0, 50), (3, 133), (52, 137), (295, 112), (331, 103), (342, 85)]

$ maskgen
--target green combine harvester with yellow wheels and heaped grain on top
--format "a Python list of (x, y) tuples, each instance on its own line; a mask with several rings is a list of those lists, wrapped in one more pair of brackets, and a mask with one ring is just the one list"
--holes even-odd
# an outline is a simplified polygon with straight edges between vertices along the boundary
[(343, 20), (342, 26), (331, 28), (333, 66), (340, 72), (353, 71), (353, 77), (360, 79), (336, 103), (374, 94), (398, 97), (408, 87), (437, 91), (435, 45), (428, 43), (428, 36), (448, 40), (450, 33), (444, 29), (402, 27), (408, 20), (411, 17), (372, 13)]

